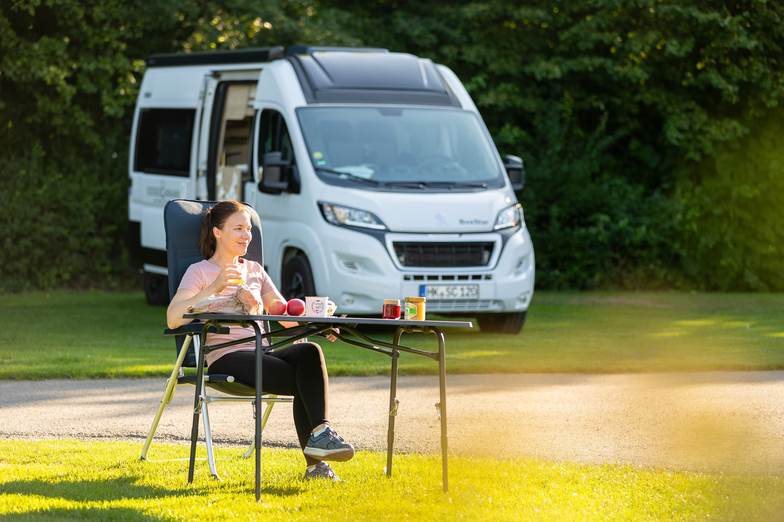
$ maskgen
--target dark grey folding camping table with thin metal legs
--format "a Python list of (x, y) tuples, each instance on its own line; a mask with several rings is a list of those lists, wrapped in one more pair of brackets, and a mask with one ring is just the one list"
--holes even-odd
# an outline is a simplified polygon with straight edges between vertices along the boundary
[[(292, 315), (230, 315), (230, 314), (186, 314), (183, 319), (202, 319), (206, 322), (201, 329), (201, 350), (199, 350), (199, 361), (196, 364), (196, 382), (199, 383), (204, 378), (204, 358), (208, 351), (219, 350), (238, 344), (247, 343), (249, 340), (256, 340), (256, 409), (261, 405), (261, 363), (262, 358), (259, 354), (263, 351), (273, 350), (274, 348), (284, 347), (295, 340), (312, 336), (316, 333), (325, 333), (333, 328), (339, 328), (341, 333), (336, 333), (336, 337), (346, 344), (365, 348), (366, 350), (377, 351), (381, 354), (389, 355), (392, 358), (392, 373), (390, 378), (390, 412), (389, 427), (387, 429), (387, 477), (392, 476), (392, 449), (394, 446), (394, 418), (397, 416), (397, 358), (400, 352), (405, 351), (409, 354), (423, 355), (438, 362), (438, 387), (441, 393), (440, 402), (436, 404), (438, 416), (441, 419), (441, 472), (443, 473), (444, 492), (448, 491), (448, 467), (447, 467), (447, 431), (446, 431), (446, 361), (444, 334), (439, 329), (441, 326), (461, 326), (471, 328), (471, 322), (456, 321), (410, 321), (405, 319), (359, 319), (350, 317), (306, 317)], [(299, 322), (299, 326), (275, 330), (274, 332), (261, 333), (257, 321), (289, 321)], [(206, 345), (207, 329), (210, 326), (241, 326), (243, 328), (252, 327), (255, 337), (247, 337), (241, 340), (234, 340), (228, 343), (217, 344), (216, 346)], [(358, 331), (358, 326), (362, 325), (386, 325), (397, 326), (394, 338), (391, 343), (380, 340), (372, 340)], [(351, 333), (360, 340), (347, 339), (343, 333)], [(432, 333), (438, 340), (438, 351), (422, 351), (400, 345), (400, 337), (403, 333)], [(262, 340), (271, 337), (286, 337), (285, 340), (270, 344), (262, 350)], [(194, 399), (194, 423), (191, 430), (191, 466), (188, 472), (188, 481), (193, 481), (194, 461), (196, 456), (196, 441), (198, 439), (198, 416), (200, 403), (201, 387), (196, 387), (196, 398)], [(261, 415), (256, 414), (256, 500), (261, 496)]]

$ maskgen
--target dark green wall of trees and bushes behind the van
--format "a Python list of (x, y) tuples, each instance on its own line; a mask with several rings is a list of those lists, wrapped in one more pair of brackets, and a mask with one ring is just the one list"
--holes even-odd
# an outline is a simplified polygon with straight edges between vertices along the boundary
[(0, 290), (112, 285), (143, 58), (373, 45), (445, 63), (524, 158), (539, 288), (784, 290), (784, 5), (11, 0)]

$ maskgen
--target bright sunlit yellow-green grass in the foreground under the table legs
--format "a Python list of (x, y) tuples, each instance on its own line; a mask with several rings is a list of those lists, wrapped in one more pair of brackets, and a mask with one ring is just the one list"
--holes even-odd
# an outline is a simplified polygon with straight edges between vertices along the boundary
[[(305, 482), (294, 450), (262, 454), (262, 502), (252, 459), (218, 450), (223, 481), (197, 463), (140, 462), (121, 442), (0, 441), (2, 520), (781, 520), (784, 479), (679, 473), (634, 466), (453, 456), (441, 491), (435, 456), (360, 452), (336, 464), (344, 484)], [(184, 445), (154, 446), (156, 459)]]

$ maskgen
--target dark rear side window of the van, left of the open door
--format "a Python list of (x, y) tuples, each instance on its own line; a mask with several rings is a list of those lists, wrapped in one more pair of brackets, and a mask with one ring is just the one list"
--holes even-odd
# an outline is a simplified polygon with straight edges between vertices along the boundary
[(133, 170), (189, 175), (195, 114), (194, 109), (142, 109)]

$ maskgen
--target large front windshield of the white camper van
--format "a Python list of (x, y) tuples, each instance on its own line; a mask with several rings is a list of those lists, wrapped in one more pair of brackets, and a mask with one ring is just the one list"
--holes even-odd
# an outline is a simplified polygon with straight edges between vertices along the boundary
[(316, 174), (376, 190), (504, 185), (476, 114), (403, 107), (302, 107), (299, 126)]

